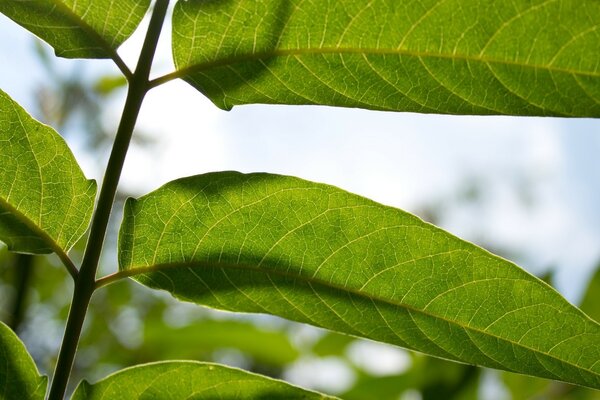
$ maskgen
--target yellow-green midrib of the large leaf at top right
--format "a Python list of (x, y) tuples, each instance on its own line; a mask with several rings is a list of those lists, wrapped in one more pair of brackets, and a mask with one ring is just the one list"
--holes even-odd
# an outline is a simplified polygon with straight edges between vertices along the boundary
[(169, 74), (171, 79), (182, 78), (185, 75), (194, 72), (204, 72), (212, 68), (223, 67), (232, 64), (239, 64), (246, 61), (257, 61), (275, 57), (288, 56), (303, 56), (303, 55), (322, 55), (322, 54), (356, 54), (356, 55), (399, 55), (411, 56), (416, 58), (440, 58), (454, 61), (475, 61), (487, 65), (501, 64), (522, 68), (543, 69), (548, 72), (560, 72), (571, 75), (587, 76), (592, 78), (600, 78), (600, 72), (592, 71), (576, 71), (568, 68), (554, 67), (552, 65), (541, 65), (532, 63), (523, 63), (518, 61), (502, 60), (494, 57), (485, 57), (482, 55), (465, 55), (465, 54), (449, 54), (437, 53), (428, 51), (418, 51), (409, 49), (392, 49), (392, 48), (358, 48), (358, 47), (321, 47), (321, 48), (292, 48), (292, 49), (277, 49), (264, 52), (248, 53), (232, 57), (226, 57), (220, 60), (206, 61), (197, 64), (192, 64), (183, 68), (179, 68), (176, 63), (177, 70)]

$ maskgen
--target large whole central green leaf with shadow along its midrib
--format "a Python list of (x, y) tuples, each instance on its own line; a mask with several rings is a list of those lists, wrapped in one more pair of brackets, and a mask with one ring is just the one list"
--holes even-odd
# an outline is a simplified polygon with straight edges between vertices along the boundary
[(269, 174), (125, 206), (120, 276), (438, 357), (600, 388), (600, 325), (516, 265), (403, 211)]

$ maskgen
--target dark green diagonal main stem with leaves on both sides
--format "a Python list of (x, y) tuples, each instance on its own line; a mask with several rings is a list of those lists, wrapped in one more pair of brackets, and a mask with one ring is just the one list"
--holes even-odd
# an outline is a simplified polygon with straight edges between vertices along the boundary
[(123, 164), (125, 163), (127, 149), (131, 142), (133, 129), (144, 96), (148, 92), (150, 69), (168, 5), (169, 0), (156, 1), (138, 65), (129, 82), (121, 122), (119, 123), (117, 135), (106, 167), (102, 190), (100, 191), (98, 204), (94, 212), (90, 236), (79, 275), (75, 281), (73, 301), (69, 310), (65, 334), (54, 370), (52, 386), (48, 396), (49, 400), (60, 400), (65, 395), (87, 308), (95, 290), (96, 271), (98, 269), (98, 261), (102, 252), (104, 237), (106, 236), (110, 212), (117, 192), (121, 171), (123, 170)]

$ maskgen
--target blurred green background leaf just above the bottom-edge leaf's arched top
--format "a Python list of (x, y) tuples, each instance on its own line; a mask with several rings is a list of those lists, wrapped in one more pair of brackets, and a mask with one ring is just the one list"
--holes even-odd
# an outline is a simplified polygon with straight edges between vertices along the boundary
[(201, 358), (219, 348), (239, 350), (257, 362), (283, 366), (298, 357), (283, 332), (267, 331), (250, 322), (201, 320), (181, 328), (165, 327), (156, 319), (146, 321), (142, 354), (154, 359)]

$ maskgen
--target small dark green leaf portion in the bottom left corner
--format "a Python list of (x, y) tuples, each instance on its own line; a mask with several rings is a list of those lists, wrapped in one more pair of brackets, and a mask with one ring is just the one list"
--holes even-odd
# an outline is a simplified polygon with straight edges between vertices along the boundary
[(40, 376), (25, 345), (0, 322), (0, 399), (44, 398), (48, 378)]

